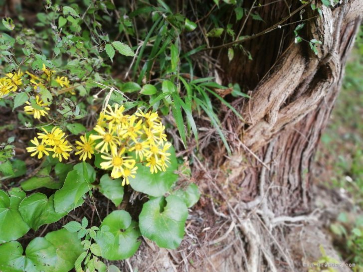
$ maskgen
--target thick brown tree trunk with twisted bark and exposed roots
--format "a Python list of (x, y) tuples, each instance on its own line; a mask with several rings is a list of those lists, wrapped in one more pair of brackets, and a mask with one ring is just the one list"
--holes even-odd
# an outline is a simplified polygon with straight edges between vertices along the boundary
[[(244, 6), (251, 7), (252, 2), (245, 1)], [(248, 19), (242, 35), (263, 31), (299, 6), (299, 1), (291, 0), (261, 7), (265, 22)], [(215, 155), (212, 162), (200, 163), (201, 170), (193, 172), (204, 193), (218, 194), (219, 202), (201, 199), (199, 211), (193, 212), (186, 227), (181, 251), (145, 245), (143, 256), (133, 258), (131, 266), (141, 271), (306, 271), (302, 263), (317, 261), (320, 244), (328, 255), (339, 258), (309, 215), (314, 197), (311, 167), (341, 87), (363, 1), (343, 1), (333, 9), (318, 6), (323, 16), (306, 21), (301, 30), (306, 40), (323, 42), (318, 55), (307, 42), (294, 43), (296, 23), (242, 43), (252, 61), (242, 50), (234, 49), (232, 61), (227, 48), (212, 52), (218, 57), (223, 83), (251, 90), (251, 99), (232, 101), (246, 123), (225, 111), (223, 126), (233, 153), (227, 155), (222, 144), (209, 146), (205, 154)], [(308, 13), (304, 17), (317, 15), (310, 5), (304, 9)], [(284, 23), (298, 20), (299, 12)], [(202, 223), (194, 220), (200, 217)], [(287, 226), (291, 223), (300, 226)], [(212, 232), (215, 225), (219, 229)], [(207, 239), (208, 232), (212, 237)], [(296, 239), (315, 241), (296, 245)], [(145, 260), (148, 264), (143, 266)]]

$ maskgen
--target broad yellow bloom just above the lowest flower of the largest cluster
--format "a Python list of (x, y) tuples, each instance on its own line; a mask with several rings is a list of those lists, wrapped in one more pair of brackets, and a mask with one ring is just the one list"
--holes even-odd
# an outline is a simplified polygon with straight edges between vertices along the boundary
[(117, 153), (116, 147), (113, 147), (113, 152), (111, 155), (105, 156), (101, 155), (101, 158), (107, 160), (101, 162), (102, 169), (112, 168), (111, 177), (119, 178), (124, 175), (124, 169), (133, 168), (135, 166), (136, 161), (131, 159), (129, 156), (122, 156), (125, 153), (125, 147), (121, 149), (119, 153)]

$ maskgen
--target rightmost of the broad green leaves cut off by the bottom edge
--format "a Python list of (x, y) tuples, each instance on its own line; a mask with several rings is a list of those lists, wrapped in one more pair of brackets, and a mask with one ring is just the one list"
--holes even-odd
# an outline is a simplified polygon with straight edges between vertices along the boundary
[(77, 234), (61, 229), (49, 232), (44, 238), (57, 249), (58, 260), (54, 271), (70, 271), (78, 256), (83, 252), (81, 240), (77, 238)]

